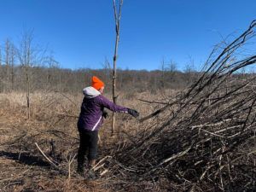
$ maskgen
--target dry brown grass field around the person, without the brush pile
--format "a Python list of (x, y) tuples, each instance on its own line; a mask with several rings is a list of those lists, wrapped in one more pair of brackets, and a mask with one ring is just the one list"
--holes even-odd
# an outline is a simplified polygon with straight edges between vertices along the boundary
[[(137, 99), (150, 97), (162, 100), (165, 94), (121, 93), (119, 105), (136, 108), (145, 115), (153, 112), (158, 105), (149, 105)], [(113, 191), (108, 183), (117, 178), (108, 175), (108, 166), (99, 167), (97, 173), (102, 176), (91, 182), (75, 172), (75, 155), (79, 147), (76, 123), (82, 99), (82, 94), (34, 93), (31, 119), (26, 119), (26, 94), (13, 92), (0, 95), (1, 191)], [(137, 119), (119, 113), (112, 135), (111, 118), (106, 119), (100, 131), (98, 161), (124, 148), (125, 143), (131, 143), (130, 138), (136, 138), (143, 129), (147, 129), (147, 125), (140, 125)], [(51, 142), (55, 143), (54, 154)], [(57, 169), (49, 165), (35, 143), (51, 160), (57, 161)]]

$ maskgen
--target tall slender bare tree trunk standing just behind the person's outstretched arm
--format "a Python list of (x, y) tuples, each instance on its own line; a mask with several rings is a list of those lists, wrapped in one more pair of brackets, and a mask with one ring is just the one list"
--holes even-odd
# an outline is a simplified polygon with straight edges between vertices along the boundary
[[(113, 54), (113, 103), (117, 102), (117, 96), (115, 92), (116, 88), (116, 60), (118, 56), (118, 48), (119, 48), (119, 24), (121, 20), (121, 9), (123, 5), (123, 0), (119, 0), (119, 8), (117, 8), (115, 0), (113, 0), (113, 13), (114, 13), (114, 21), (115, 21), (115, 46), (114, 46), (114, 54)], [(115, 125), (115, 116), (113, 113), (112, 116), (112, 133), (114, 131)]]

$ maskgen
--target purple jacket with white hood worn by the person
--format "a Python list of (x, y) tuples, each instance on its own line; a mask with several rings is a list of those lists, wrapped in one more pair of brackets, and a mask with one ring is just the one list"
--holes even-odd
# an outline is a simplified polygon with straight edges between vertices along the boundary
[(84, 100), (79, 115), (79, 131), (97, 131), (102, 125), (102, 112), (108, 108), (113, 112), (128, 113), (127, 108), (115, 105), (93, 87), (86, 87), (83, 90)]

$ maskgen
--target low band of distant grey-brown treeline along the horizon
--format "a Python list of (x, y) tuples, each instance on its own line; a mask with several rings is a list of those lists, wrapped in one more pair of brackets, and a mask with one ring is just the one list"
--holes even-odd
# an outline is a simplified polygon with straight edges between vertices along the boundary
[[(26, 75), (27, 72), (28, 75)], [(117, 89), (125, 91), (158, 91), (161, 89), (180, 89), (193, 82), (198, 73), (169, 70), (121, 70), (117, 71)], [(21, 65), (0, 66), (0, 92), (26, 91), (31, 92), (61, 91), (79, 92), (84, 86), (90, 85), (90, 78), (96, 75), (112, 89), (112, 72), (110, 69), (63, 69), (60, 67), (29, 67)], [(29, 79), (29, 80), (28, 80)], [(29, 82), (29, 84), (27, 84)]]

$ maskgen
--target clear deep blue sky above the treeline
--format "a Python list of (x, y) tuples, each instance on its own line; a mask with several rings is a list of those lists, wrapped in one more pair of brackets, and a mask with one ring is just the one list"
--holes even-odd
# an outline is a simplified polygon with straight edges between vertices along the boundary
[[(2, 46), (32, 29), (61, 67), (113, 61), (112, 0), (0, 0), (0, 14)], [(236, 37), (255, 19), (255, 0), (124, 0), (118, 67), (159, 69), (163, 59), (199, 67), (221, 36)]]

